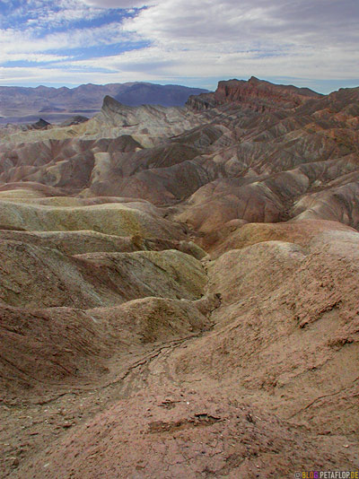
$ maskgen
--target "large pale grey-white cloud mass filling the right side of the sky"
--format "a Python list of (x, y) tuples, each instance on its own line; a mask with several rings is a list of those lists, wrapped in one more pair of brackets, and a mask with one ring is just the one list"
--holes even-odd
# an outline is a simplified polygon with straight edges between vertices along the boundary
[(151, 42), (154, 62), (176, 58), (178, 74), (338, 78), (357, 77), (358, 23), (357, 0), (162, 0), (124, 29)]

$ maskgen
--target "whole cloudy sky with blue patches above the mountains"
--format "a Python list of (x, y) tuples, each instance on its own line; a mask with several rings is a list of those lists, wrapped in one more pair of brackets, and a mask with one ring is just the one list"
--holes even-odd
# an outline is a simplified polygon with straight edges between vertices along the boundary
[(0, 0), (0, 85), (359, 86), (359, 0)]

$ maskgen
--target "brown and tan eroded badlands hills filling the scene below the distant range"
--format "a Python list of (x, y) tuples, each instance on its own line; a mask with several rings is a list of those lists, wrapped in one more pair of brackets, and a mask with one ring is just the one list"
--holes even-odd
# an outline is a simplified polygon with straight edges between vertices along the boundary
[(359, 89), (0, 135), (4, 477), (355, 470)]

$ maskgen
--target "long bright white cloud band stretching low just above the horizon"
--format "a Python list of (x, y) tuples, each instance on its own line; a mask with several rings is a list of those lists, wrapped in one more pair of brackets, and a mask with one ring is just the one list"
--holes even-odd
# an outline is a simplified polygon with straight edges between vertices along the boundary
[[(332, 64), (337, 69), (333, 70)], [(357, 78), (357, 64), (353, 63), (353, 52), (343, 53), (340, 49), (323, 48), (321, 57), (316, 51), (301, 49), (291, 53), (261, 50), (233, 51), (218, 53), (211, 49), (192, 48), (188, 50), (163, 49), (161, 47), (141, 48), (124, 52), (118, 56), (66, 61), (65, 65), (73, 68), (101, 67), (111, 74), (132, 74), (132, 79), (144, 80), (144, 75), (151, 75), (158, 80), (170, 78), (206, 77), (247, 78), (256, 74), (261, 78), (286, 76), (312, 79), (351, 79)], [(306, 65), (303, 68), (302, 65)]]

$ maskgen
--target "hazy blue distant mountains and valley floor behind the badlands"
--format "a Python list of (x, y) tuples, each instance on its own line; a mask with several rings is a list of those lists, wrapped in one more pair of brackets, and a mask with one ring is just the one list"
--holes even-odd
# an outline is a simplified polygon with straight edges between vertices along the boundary
[(89, 83), (76, 88), (1, 86), (0, 121), (31, 122), (41, 117), (56, 122), (73, 115), (92, 117), (101, 110), (102, 100), (106, 95), (133, 107), (143, 104), (180, 107), (190, 95), (206, 91), (201, 88), (153, 83)]

